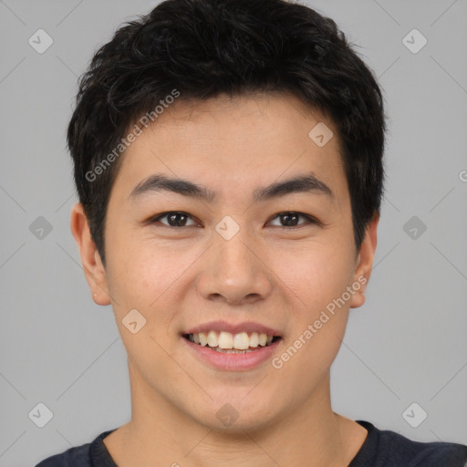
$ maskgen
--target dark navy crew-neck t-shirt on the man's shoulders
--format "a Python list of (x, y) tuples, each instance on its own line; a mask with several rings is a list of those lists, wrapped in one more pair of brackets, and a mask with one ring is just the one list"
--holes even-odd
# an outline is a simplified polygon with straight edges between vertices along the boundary
[[(348, 467), (467, 467), (463, 444), (411, 441), (395, 431), (378, 430), (368, 421), (356, 421), (368, 435)], [(104, 431), (94, 441), (48, 457), (35, 467), (118, 467), (103, 442), (115, 430)]]

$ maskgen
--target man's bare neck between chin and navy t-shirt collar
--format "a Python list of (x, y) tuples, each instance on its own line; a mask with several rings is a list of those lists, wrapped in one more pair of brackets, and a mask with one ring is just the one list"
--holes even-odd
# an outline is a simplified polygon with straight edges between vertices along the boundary
[(254, 428), (219, 431), (154, 393), (130, 366), (131, 420), (105, 439), (119, 467), (346, 467), (366, 430), (334, 413), (329, 374), (305, 404)]

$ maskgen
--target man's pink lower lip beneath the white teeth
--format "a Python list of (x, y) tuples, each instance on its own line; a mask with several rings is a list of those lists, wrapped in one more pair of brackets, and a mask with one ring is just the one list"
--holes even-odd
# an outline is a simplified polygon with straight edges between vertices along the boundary
[(194, 352), (197, 358), (201, 358), (213, 367), (227, 371), (242, 371), (257, 367), (264, 363), (265, 360), (272, 358), (282, 339), (277, 339), (269, 346), (257, 348), (253, 352), (246, 352), (244, 354), (226, 354), (210, 350), (199, 344), (194, 344), (185, 337), (182, 337), (182, 341), (188, 346), (190, 351)]

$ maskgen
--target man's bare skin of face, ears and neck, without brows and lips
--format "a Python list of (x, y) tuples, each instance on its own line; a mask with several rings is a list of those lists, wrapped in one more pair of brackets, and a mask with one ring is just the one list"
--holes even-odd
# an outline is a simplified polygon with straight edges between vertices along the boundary
[[(308, 137), (318, 122), (334, 132), (324, 147)], [(349, 308), (365, 301), (365, 285), (279, 369), (268, 360), (246, 371), (217, 370), (193, 357), (180, 336), (211, 320), (251, 320), (280, 330), (277, 357), (346, 287), (358, 277), (368, 281), (379, 217), (356, 251), (336, 127), (286, 94), (180, 100), (121, 157), (107, 213), (106, 267), (82, 206), (71, 214), (93, 299), (112, 306), (128, 352), (131, 420), (104, 440), (114, 461), (347, 466), (367, 431), (332, 410), (329, 369)], [(292, 193), (252, 202), (254, 189), (309, 171), (332, 198)], [(200, 183), (218, 199), (159, 192), (130, 201), (132, 189), (155, 172)], [(170, 226), (167, 217), (146, 222), (171, 211), (190, 214), (182, 218), (188, 226)], [(299, 217), (294, 230), (277, 216), (286, 211), (321, 224)], [(225, 215), (240, 227), (229, 241), (215, 231)], [(136, 334), (121, 322), (133, 308), (147, 320)], [(230, 426), (216, 417), (225, 403), (238, 413)]]

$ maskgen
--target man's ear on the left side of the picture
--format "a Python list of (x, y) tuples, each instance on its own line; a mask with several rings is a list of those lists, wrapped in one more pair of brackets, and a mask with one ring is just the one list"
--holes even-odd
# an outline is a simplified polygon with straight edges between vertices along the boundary
[(92, 293), (92, 299), (98, 305), (110, 305), (106, 270), (100, 260), (96, 244), (92, 240), (88, 218), (80, 202), (75, 204), (71, 210), (70, 227), (78, 244), (81, 263)]

